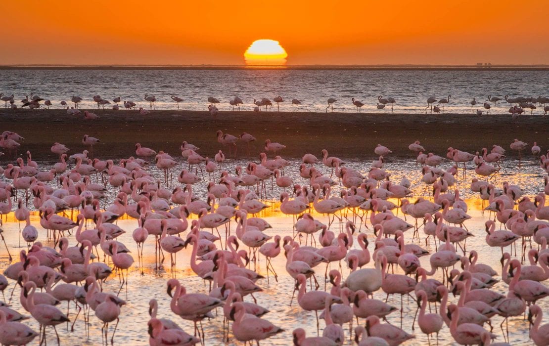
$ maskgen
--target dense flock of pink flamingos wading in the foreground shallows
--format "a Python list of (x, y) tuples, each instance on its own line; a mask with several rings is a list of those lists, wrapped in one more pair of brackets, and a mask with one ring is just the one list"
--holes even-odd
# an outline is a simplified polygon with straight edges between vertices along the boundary
[[(3, 146), (24, 147), (24, 138), (14, 132), (5, 131), (1, 138)], [(255, 138), (218, 131), (217, 140), (230, 152), (237, 141), (250, 143)], [(278, 333), (293, 333), (295, 345), (341, 345), (350, 338), (359, 345), (397, 345), (414, 336), (402, 325), (385, 322), (385, 316), (399, 310), (402, 314), (404, 296), (408, 304), (417, 304), (414, 324), (437, 343), (439, 331), (449, 328), (459, 344), (495, 345), (495, 333), (508, 338), (509, 317), (527, 315), (530, 326), (522, 326), (530, 328), (529, 342), (549, 344), (549, 324), (542, 325), (543, 311), (536, 304), (549, 296), (549, 206), (545, 206), (549, 182), (545, 177), (545, 190), (533, 198), (525, 196), (520, 186), (490, 183), (509, 149), (521, 156), (531, 151), (536, 165), (549, 173), (549, 152), (544, 154), (535, 144), (514, 140), (507, 149), (494, 145), (476, 155), (449, 148), (441, 157), (424, 154), (427, 151), (416, 141), (410, 151), (421, 163), (422, 184), (434, 192), (414, 196), (413, 201), (408, 199), (410, 181), (391, 181), (384, 170), (384, 158), (391, 151), (383, 145), (374, 148), (379, 160), (366, 176), (326, 150), (321, 158), (305, 154), (299, 175), (307, 184), (297, 185), (285, 174), (297, 167), (277, 155), (285, 146), (268, 139), (260, 161), (247, 167), (234, 167), (235, 161), (221, 150), (210, 161), (186, 141), (180, 148), (183, 166), (165, 152), (140, 144), (135, 156), (116, 164), (90, 156), (98, 141), (85, 135), (82, 143), (90, 150), (70, 158), (66, 146), (53, 144), (51, 151), (59, 155), (59, 162), (48, 170), (28, 151), (26, 160), (19, 157), (1, 169), (0, 213), (14, 212), (26, 223), (19, 237), (28, 245), (14, 254), (14, 262), (0, 275), (0, 290), (13, 285), (9, 289), (13, 295), (17, 287), (20, 294), (14, 299), (20, 299), (24, 309), (10, 308), (12, 297), (2, 302), (0, 343), (4, 345), (27, 344), (39, 335), (40, 343), (45, 343), (48, 327), (59, 343), (56, 326), (70, 321), (74, 327), (79, 319), (86, 328), (102, 325), (103, 342), (113, 343), (120, 314), (131, 313), (125, 311), (123, 289), (127, 290), (128, 270), (143, 270), (145, 242), (155, 242), (156, 265), (167, 264), (169, 254), (172, 269), (178, 252), (191, 246), (191, 269), (209, 282), (200, 292), (189, 292), (175, 277), (159, 287), (167, 290), (171, 312), (178, 317), (176, 321), (158, 317), (170, 311), (157, 311), (156, 300), (150, 301), (150, 320), (143, 334), (148, 331), (151, 345), (203, 342), (205, 319), (230, 321), (232, 333), (227, 331), (220, 340), (230, 337), (259, 344)], [(271, 153), (274, 158), (268, 157)], [(236, 156), (236, 150), (228, 156)], [(455, 165), (439, 168), (445, 161)], [(467, 173), (470, 161), (477, 173), (470, 189), (493, 213), (485, 224), (485, 244), (478, 248), (466, 245), (473, 236), (467, 229), (470, 215), (459, 191), (452, 188), (456, 179), (464, 179), (460, 175)], [(153, 177), (149, 165), (164, 171), (165, 180)], [(220, 178), (212, 180), (212, 175)], [(272, 184), (284, 192), (269, 195)], [(330, 194), (334, 185), (342, 186), (338, 196)], [(269, 207), (264, 203), (268, 198), (279, 198), (280, 211), (293, 217), (288, 235), (268, 235), (270, 225), (256, 216)], [(107, 207), (100, 209), (99, 200)], [(40, 212), (40, 228), (30, 223), (29, 208)], [(75, 218), (64, 216), (69, 209), (79, 211)], [(135, 244), (117, 240), (124, 230), (116, 220), (124, 215), (137, 221), (132, 233)], [(324, 215), (326, 224), (313, 215)], [(424, 239), (435, 246), (434, 252), (422, 247)], [(502, 268), (477, 262), (478, 252), (488, 247), (501, 248)], [(9, 253), (7, 245), (6, 250)], [(317, 316), (317, 336), (306, 336), (302, 328), (282, 330), (268, 320), (268, 310), (254, 297), (262, 291), (261, 282), (277, 279), (270, 260), (281, 254), (287, 274), (295, 279), (294, 294), (288, 292), (287, 302)], [(429, 257), (430, 268), (421, 266), (422, 256)], [(267, 279), (258, 273), (260, 257), (265, 258)], [(105, 292), (102, 284), (113, 273), (119, 276), (120, 290)], [(500, 280), (508, 285), (505, 294), (491, 289)], [(401, 307), (375, 299), (373, 293), (378, 291), (400, 295)], [(450, 304), (452, 293), (458, 300)], [(61, 302), (74, 303), (77, 314), (69, 318), (56, 306)], [(496, 315), (504, 318), (501, 326), (491, 325)], [(40, 324), (40, 332), (21, 322), (29, 318)], [(192, 321), (194, 331), (183, 331), (177, 324), (180, 318)], [(357, 325), (351, 329), (355, 319)]]

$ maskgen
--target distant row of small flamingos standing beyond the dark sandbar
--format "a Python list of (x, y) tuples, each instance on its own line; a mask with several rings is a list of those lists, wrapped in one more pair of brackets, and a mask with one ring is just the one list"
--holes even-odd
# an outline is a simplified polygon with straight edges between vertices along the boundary
[[(184, 100), (178, 97), (177, 95), (170, 95), (170, 98), (176, 102), (177, 110), (179, 110), (179, 104)], [(8, 104), (9, 104), (9, 107), (11, 107), (12, 109), (17, 108), (13, 94), (12, 95), (0, 94), (0, 99), (4, 101), (4, 106), (6, 108), (8, 107)], [(71, 97), (71, 103), (74, 103), (74, 107), (68, 108), (68, 104), (65, 100), (61, 100), (59, 104), (61, 105), (61, 107), (63, 107), (63, 109), (67, 107), (69, 114), (79, 114), (79, 111), (77, 111), (78, 104), (81, 103), (82, 100), (83, 99), (81, 97), (73, 95)], [(154, 103), (156, 102), (156, 96), (153, 94), (145, 94), (143, 97), (143, 100), (148, 101), (149, 108), (153, 109)], [(40, 104), (41, 101), (44, 101), (44, 103)], [(106, 105), (111, 104), (111, 101), (107, 99), (103, 99), (100, 95), (95, 95), (93, 97), (93, 101), (97, 103), (98, 109), (100, 107), (105, 107)], [(328, 106), (326, 107), (326, 112), (328, 112), (328, 110), (333, 111), (334, 103), (336, 103), (337, 101), (338, 101), (337, 99), (329, 98), (327, 100)], [(497, 101), (506, 101), (506, 103), (509, 104), (510, 106), (508, 111), (513, 115), (514, 118), (518, 117), (520, 114), (523, 114), (525, 110), (529, 110), (530, 114), (534, 114), (534, 110), (536, 110), (537, 107), (540, 107), (540, 109), (544, 111), (544, 116), (547, 115), (547, 113), (549, 112), (549, 105), (546, 105), (546, 104), (549, 104), (549, 97), (538, 96), (537, 98), (535, 98), (535, 97), (519, 96), (516, 98), (512, 98), (512, 97), (509, 97), (509, 95), (505, 95), (505, 98), (502, 99), (496, 96), (492, 97), (492, 95), (488, 95), (488, 98), (486, 99), (486, 101), (488, 102), (484, 102), (483, 104), (482, 101), (477, 101), (477, 98), (473, 98), (473, 100), (469, 102), (469, 104), (471, 105), (471, 111), (473, 112), (473, 114), (483, 115), (482, 109), (475, 109), (475, 105), (477, 104), (479, 106), (482, 105), (484, 112), (486, 114), (490, 114), (491, 112), (490, 109), (492, 107), (491, 103), (494, 103), (494, 105), (497, 106)], [(124, 107), (126, 109), (135, 109), (135, 107), (137, 106), (137, 104), (133, 101), (122, 101), (120, 97), (115, 97), (113, 99), (113, 103), (114, 103), (114, 105), (112, 106), (113, 110), (118, 110), (120, 107), (119, 103), (121, 102), (124, 103)], [(219, 112), (219, 109), (217, 109), (216, 105), (220, 104), (221, 101), (215, 97), (208, 97), (208, 102), (210, 103), (210, 106), (208, 106), (208, 109), (210, 110), (212, 115), (216, 115)], [(281, 96), (277, 96), (273, 98), (272, 101), (268, 98), (254, 99), (253, 101), (254, 111), (260, 111), (261, 107), (263, 106), (265, 106), (265, 110), (270, 110), (273, 102), (277, 104), (277, 111), (279, 111), (280, 110), (279, 105), (280, 103), (284, 102), (284, 100), (282, 99)], [(452, 102), (453, 102), (452, 95), (448, 95), (447, 98), (441, 98), (441, 99), (435, 98), (433, 96), (429, 97), (427, 99), (427, 107), (425, 107), (425, 114), (427, 114), (428, 109), (430, 109), (431, 113), (433, 112), (435, 112), (436, 114), (440, 114), (440, 112), (444, 113), (446, 104), (449, 104)], [(35, 95), (33, 93), (31, 93), (30, 95), (25, 95), (25, 98), (21, 100), (21, 103), (23, 104), (21, 105), (21, 107), (29, 107), (30, 109), (36, 109), (44, 106), (46, 106), (49, 109), (50, 106), (53, 106), (53, 103), (51, 100), (43, 99), (40, 96)], [(355, 100), (355, 98), (351, 98), (351, 103), (356, 106), (357, 112), (361, 112), (362, 106), (365, 105), (361, 101)], [(378, 97), (378, 102), (376, 103), (376, 108), (378, 110), (382, 110), (383, 112), (386, 112), (386, 110), (389, 110), (392, 113), (393, 105), (395, 103), (396, 103), (396, 100), (394, 98), (392, 97), (384, 98), (382, 95), (380, 95)], [(234, 99), (229, 100), (229, 105), (232, 106), (233, 111), (234, 111), (234, 107), (237, 107), (237, 110), (240, 110), (240, 106), (244, 105), (244, 102), (242, 101), (241, 98), (237, 96)], [(295, 111), (297, 112), (301, 105), (301, 101), (298, 99), (292, 99), (292, 105), (295, 107)], [(139, 111), (142, 114), (149, 114), (149, 111), (145, 110), (143, 107), (139, 107)]]

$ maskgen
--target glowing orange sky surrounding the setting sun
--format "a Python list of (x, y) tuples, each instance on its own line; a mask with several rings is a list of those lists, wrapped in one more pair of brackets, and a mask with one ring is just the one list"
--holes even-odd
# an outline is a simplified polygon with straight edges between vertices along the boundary
[(0, 64), (549, 64), (547, 0), (6, 1)]

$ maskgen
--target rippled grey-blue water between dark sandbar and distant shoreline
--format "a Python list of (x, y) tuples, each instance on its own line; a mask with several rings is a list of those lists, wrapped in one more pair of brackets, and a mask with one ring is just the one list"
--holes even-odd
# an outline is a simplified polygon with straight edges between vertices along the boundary
[[(36, 93), (51, 100), (55, 108), (60, 108), (61, 100), (70, 105), (72, 95), (79, 95), (83, 109), (97, 107), (93, 102), (97, 94), (109, 101), (114, 97), (134, 101), (145, 109), (149, 103), (144, 94), (155, 94), (156, 109), (171, 110), (176, 109), (171, 94), (184, 99), (180, 110), (206, 110), (206, 99), (212, 96), (221, 101), (217, 107), (223, 111), (232, 109), (228, 101), (235, 96), (244, 101), (243, 111), (251, 111), (254, 99), (272, 100), (281, 95), (281, 111), (294, 111), (291, 100), (296, 98), (302, 103), (300, 111), (324, 112), (326, 100), (335, 98), (334, 111), (352, 112), (356, 107), (351, 98), (355, 98), (365, 104), (363, 112), (383, 114), (376, 108), (378, 96), (383, 95), (396, 99), (394, 112), (417, 114), (425, 112), (427, 98), (450, 94), (445, 112), (469, 114), (473, 97), (484, 112), (489, 94), (501, 99), (506, 94), (511, 98), (547, 96), (548, 86), (546, 71), (0, 70), (0, 93), (14, 94), (18, 107), (25, 94)], [(508, 114), (505, 100), (491, 106), (494, 114)], [(542, 114), (543, 105), (536, 106), (536, 114)]]

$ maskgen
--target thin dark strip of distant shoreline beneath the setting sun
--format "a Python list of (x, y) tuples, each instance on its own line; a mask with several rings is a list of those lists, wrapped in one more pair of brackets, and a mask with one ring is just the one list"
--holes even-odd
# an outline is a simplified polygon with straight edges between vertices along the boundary
[(0, 70), (549, 71), (549, 65), (0, 65)]

